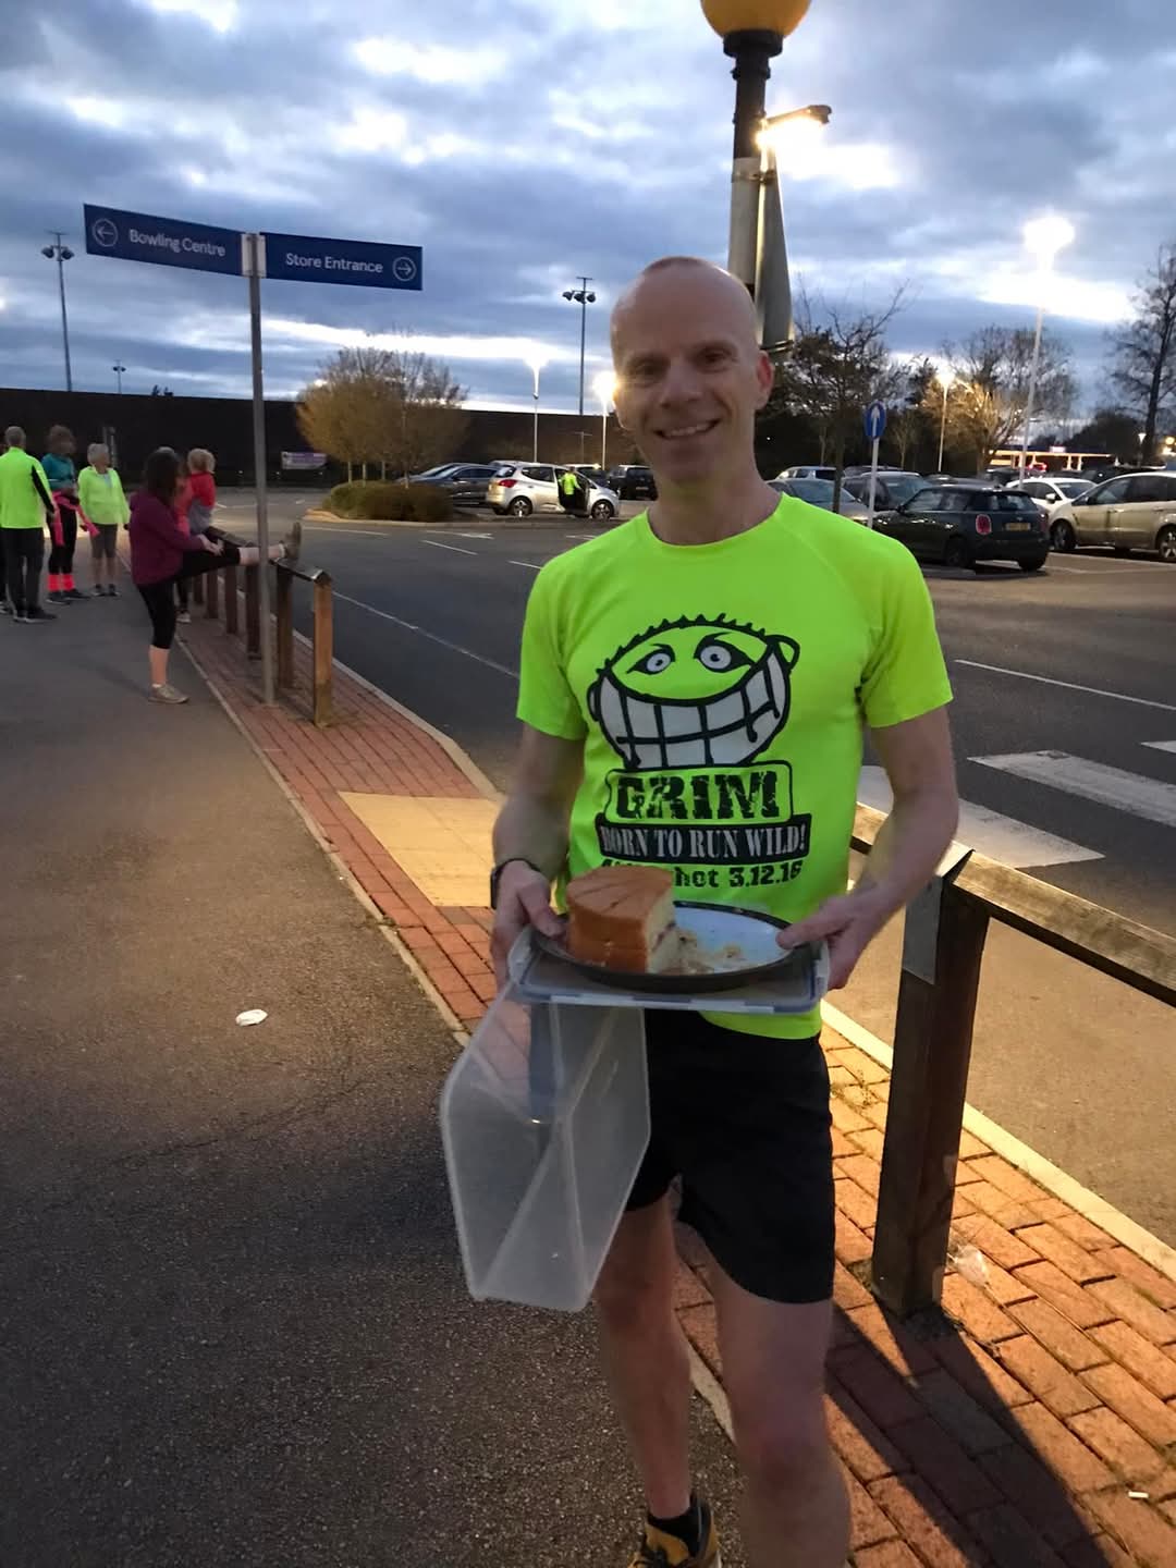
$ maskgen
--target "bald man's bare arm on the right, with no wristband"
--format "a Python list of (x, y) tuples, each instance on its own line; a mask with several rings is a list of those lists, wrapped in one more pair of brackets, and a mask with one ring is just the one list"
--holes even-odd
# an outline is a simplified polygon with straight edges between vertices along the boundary
[(786, 947), (828, 941), (831, 989), (847, 985), (873, 936), (935, 877), (960, 817), (947, 709), (875, 729), (873, 745), (891, 781), (894, 806), (866, 870), (853, 892), (829, 898), (781, 938)]

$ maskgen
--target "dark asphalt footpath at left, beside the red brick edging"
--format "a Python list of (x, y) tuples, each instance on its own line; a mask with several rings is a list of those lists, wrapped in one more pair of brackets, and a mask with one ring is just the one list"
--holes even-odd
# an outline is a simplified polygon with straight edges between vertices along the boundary
[(138, 596), (0, 643), (0, 1563), (622, 1562), (591, 1316), (466, 1294), (433, 1007)]

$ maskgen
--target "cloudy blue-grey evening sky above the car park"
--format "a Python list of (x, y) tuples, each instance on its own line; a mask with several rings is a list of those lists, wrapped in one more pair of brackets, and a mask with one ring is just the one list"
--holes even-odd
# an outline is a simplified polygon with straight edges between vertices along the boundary
[[(245, 282), (85, 254), (82, 204), (425, 248), (417, 295), (263, 285), (267, 390), (365, 334), (411, 334), (478, 405), (574, 408), (608, 301), (654, 256), (724, 259), (732, 83), (698, 0), (6, 0), (0, 384), (246, 394)], [(793, 270), (839, 304), (906, 282), (902, 353), (1032, 318), (1024, 221), (1077, 240), (1054, 325), (1099, 389), (1109, 325), (1176, 238), (1171, 0), (814, 0), (770, 108), (828, 102), (782, 149)]]

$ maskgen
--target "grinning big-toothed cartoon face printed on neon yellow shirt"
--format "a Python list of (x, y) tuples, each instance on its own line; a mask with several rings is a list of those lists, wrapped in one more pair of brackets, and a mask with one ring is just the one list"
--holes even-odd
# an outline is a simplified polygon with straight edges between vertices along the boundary
[(663, 621), (604, 665), (588, 710), (629, 770), (740, 767), (787, 723), (798, 657), (724, 616)]

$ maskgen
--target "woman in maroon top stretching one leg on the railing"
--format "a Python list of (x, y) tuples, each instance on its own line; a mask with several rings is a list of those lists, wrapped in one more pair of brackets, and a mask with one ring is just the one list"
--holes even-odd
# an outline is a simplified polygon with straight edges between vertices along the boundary
[[(256, 566), (257, 546), (230, 544), (223, 533), (185, 533), (176, 516), (180, 486), (180, 459), (171, 447), (160, 447), (147, 458), (143, 489), (130, 503), (130, 575), (151, 616), (151, 701), (187, 702), (168, 685), (168, 652), (176, 637), (176, 585), (220, 566)], [(303, 525), (296, 522), (281, 544), (270, 547), (270, 560), (298, 560)]]

